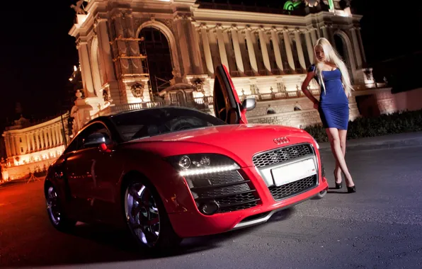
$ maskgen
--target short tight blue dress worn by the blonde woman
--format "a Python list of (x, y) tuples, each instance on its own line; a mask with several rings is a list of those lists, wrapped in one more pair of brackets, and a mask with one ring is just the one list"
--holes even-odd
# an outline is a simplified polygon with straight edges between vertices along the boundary
[[(315, 65), (312, 64), (308, 71), (314, 71)], [(349, 101), (341, 82), (340, 69), (332, 71), (322, 71), (322, 77), (325, 84), (321, 85), (321, 95), (319, 97), (319, 116), (324, 128), (337, 128), (347, 130), (349, 121)], [(317, 81), (319, 80), (316, 76)]]

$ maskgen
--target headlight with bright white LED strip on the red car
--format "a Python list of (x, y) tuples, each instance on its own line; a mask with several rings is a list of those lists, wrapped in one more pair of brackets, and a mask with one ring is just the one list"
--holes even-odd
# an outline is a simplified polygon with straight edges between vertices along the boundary
[(203, 175), (239, 169), (240, 166), (227, 156), (219, 154), (186, 154), (171, 156), (167, 161), (181, 176)]

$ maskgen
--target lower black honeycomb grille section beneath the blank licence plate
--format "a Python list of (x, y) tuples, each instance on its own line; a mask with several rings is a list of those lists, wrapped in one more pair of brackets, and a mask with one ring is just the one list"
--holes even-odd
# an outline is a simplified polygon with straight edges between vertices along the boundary
[(274, 200), (282, 200), (289, 198), (293, 195), (305, 192), (317, 186), (318, 178), (317, 175), (309, 176), (307, 178), (302, 178), (299, 181), (292, 183), (287, 183), (285, 185), (271, 186), (269, 187), (271, 195), (273, 195)]

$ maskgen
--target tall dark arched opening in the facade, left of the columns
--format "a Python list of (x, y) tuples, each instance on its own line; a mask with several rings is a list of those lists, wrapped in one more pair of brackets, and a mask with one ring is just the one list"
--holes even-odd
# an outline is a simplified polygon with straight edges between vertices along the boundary
[(161, 30), (151, 26), (142, 28), (139, 38), (144, 38), (144, 41), (139, 42), (139, 51), (142, 55), (147, 55), (152, 93), (158, 95), (159, 91), (168, 87), (169, 81), (173, 79), (169, 41)]

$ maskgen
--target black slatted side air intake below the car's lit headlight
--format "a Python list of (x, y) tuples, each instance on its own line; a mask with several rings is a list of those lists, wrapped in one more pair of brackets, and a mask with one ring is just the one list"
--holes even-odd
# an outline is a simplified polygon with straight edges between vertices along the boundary
[(245, 181), (238, 171), (188, 176), (186, 181), (196, 206), (215, 200), (219, 204), (217, 213), (254, 207), (260, 200), (251, 182)]

